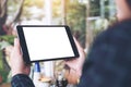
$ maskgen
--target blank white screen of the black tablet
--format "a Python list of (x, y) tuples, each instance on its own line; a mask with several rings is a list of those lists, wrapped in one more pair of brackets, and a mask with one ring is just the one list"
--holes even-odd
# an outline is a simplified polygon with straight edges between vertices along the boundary
[(23, 27), (31, 61), (74, 57), (64, 27)]

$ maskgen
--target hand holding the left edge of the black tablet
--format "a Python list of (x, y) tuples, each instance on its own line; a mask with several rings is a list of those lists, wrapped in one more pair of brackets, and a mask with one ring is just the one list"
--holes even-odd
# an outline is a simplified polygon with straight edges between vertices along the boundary
[(11, 52), (11, 71), (12, 71), (12, 76), (16, 74), (25, 74), (29, 75), (31, 66), (25, 65), (23, 58), (22, 58), (22, 52), (20, 50), (20, 42), (19, 39), (14, 39), (14, 48)]

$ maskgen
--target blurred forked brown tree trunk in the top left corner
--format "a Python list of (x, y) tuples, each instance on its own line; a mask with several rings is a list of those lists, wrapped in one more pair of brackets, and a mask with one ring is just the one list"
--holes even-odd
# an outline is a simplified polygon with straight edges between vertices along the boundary
[(0, 0), (0, 35), (11, 35), (11, 32), (13, 29), (12, 25), (20, 20), (20, 16), (22, 14), (23, 2), (24, 0), (19, 1), (20, 5), (13, 14), (13, 18), (9, 20), (8, 0)]

